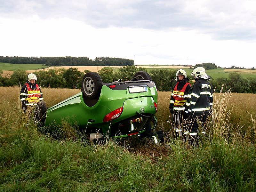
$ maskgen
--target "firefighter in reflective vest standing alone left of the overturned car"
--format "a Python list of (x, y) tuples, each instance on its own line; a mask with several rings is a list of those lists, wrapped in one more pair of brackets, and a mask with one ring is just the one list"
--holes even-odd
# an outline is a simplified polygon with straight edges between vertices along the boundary
[(30, 73), (28, 75), (28, 81), (22, 86), (20, 90), (21, 107), (26, 111), (28, 106), (35, 106), (40, 100), (43, 99), (43, 93), (40, 87), (36, 84), (36, 75)]

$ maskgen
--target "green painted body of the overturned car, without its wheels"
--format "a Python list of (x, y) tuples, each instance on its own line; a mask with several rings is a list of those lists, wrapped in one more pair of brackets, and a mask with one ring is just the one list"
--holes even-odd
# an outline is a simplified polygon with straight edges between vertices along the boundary
[[(139, 88), (139, 92), (132, 92), (132, 87)], [(141, 91), (142, 87), (144, 91)], [(71, 125), (78, 125), (80, 129), (95, 128), (111, 137), (139, 135), (146, 131), (150, 122), (152, 128), (156, 126), (154, 115), (157, 111), (157, 90), (152, 81), (103, 84), (99, 98), (92, 101), (94, 103), (90, 104), (91, 101), (80, 92), (48, 108), (45, 126), (60, 125), (65, 119)], [(103, 121), (107, 114), (118, 108), (123, 109), (121, 115), (113, 120)]]

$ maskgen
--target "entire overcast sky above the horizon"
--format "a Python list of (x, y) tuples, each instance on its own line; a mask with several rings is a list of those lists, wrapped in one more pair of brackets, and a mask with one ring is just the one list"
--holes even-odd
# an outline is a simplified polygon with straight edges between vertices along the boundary
[(0, 0), (0, 56), (256, 67), (256, 0)]

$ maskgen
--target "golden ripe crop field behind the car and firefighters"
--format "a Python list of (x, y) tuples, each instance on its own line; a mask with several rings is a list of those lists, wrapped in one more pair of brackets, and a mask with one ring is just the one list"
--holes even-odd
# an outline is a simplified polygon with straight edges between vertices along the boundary
[[(62, 100), (69, 98), (72, 95), (80, 92), (78, 89), (54, 89), (54, 88), (44, 88), (42, 87), (42, 92), (44, 100), (47, 107), (51, 107)], [(19, 87), (0, 87), (0, 100), (8, 100), (8, 102), (13, 103), (19, 100), (20, 89)], [(156, 117), (158, 119), (158, 128), (164, 129), (165, 131), (170, 131), (172, 126), (167, 121), (170, 121), (169, 115), (169, 101), (171, 92), (158, 92), (158, 112)], [(214, 93), (214, 101), (219, 98), (220, 93)], [(232, 110), (230, 120), (233, 128), (239, 126), (240, 128), (244, 126), (247, 128), (252, 125), (252, 118), (256, 119), (256, 103), (255, 94), (250, 93), (232, 93), (230, 99), (228, 100), (228, 109)], [(250, 116), (252, 115), (252, 118)]]

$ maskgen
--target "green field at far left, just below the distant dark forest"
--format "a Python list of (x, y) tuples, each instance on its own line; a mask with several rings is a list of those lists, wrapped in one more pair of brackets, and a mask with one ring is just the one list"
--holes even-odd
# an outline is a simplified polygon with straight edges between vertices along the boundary
[(42, 64), (12, 64), (12, 63), (0, 63), (0, 69), (7, 71), (15, 71), (17, 69), (24, 70), (35, 70), (47, 68), (47, 66), (43, 66)]

